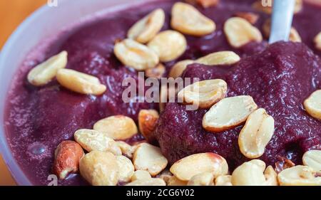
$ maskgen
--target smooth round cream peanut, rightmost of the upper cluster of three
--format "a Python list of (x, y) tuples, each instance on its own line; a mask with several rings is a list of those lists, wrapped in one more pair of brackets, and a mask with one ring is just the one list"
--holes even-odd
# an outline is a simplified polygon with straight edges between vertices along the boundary
[(182, 56), (187, 48), (187, 41), (177, 31), (163, 31), (148, 43), (148, 47), (156, 52), (161, 62), (168, 62)]

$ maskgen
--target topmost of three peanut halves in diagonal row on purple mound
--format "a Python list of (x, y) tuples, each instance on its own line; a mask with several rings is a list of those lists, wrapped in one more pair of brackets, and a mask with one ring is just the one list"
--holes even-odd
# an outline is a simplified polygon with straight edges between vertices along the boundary
[(178, 100), (207, 109), (225, 98), (228, 84), (221, 79), (203, 80), (180, 90)]

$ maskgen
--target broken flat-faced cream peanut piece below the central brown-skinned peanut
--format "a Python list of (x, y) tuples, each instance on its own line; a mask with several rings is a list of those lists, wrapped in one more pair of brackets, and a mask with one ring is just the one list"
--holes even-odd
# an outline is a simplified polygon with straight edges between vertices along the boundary
[(135, 169), (147, 170), (156, 176), (165, 169), (167, 159), (161, 154), (161, 149), (148, 143), (139, 144), (133, 155)]

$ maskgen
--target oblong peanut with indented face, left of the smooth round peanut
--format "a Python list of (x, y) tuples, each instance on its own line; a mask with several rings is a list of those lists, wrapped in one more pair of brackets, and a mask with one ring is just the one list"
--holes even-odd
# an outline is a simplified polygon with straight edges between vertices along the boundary
[(131, 39), (116, 43), (113, 51), (121, 63), (136, 70), (153, 68), (159, 63), (159, 58), (154, 51)]

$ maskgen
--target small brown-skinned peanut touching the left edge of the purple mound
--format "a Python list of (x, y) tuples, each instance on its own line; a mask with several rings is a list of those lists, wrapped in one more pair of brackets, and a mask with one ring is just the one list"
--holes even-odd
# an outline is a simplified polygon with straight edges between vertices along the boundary
[(153, 142), (153, 130), (156, 127), (159, 118), (156, 110), (141, 110), (138, 113), (138, 126), (141, 134), (148, 142)]

